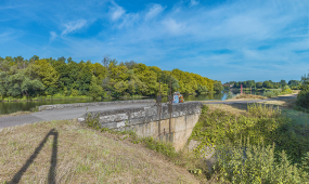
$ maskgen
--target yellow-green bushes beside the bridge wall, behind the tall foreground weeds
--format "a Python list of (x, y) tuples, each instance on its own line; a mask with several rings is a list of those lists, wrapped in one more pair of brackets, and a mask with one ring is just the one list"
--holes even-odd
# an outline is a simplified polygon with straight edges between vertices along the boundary
[(201, 142), (196, 156), (205, 146), (235, 144), (241, 137), (248, 137), (252, 145), (275, 143), (276, 152), (285, 150), (293, 162), (300, 163), (309, 152), (307, 132), (307, 123), (297, 123), (272, 106), (253, 104), (248, 105), (246, 116), (239, 117), (218, 109), (203, 110), (190, 139)]

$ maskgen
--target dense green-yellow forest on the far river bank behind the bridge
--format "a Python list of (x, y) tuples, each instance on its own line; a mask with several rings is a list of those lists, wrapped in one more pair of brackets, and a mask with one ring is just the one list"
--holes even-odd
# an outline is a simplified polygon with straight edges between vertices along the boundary
[(162, 95), (172, 92), (205, 94), (221, 91), (220, 81), (180, 69), (162, 70), (142, 63), (120, 62), (105, 56), (101, 63), (79, 63), (72, 57), (54, 60), (33, 56), (25, 60), (0, 57), (0, 96), (37, 97), (47, 95), (78, 96), (93, 98), (119, 96), (155, 96), (159, 81)]

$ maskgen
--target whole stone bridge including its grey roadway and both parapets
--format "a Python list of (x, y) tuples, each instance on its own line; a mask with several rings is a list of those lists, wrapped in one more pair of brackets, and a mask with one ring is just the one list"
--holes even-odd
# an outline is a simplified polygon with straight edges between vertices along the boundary
[(102, 128), (133, 130), (140, 136), (171, 142), (180, 150), (198, 120), (202, 103), (173, 104), (171, 118), (167, 105), (162, 105), (160, 118), (154, 105), (154, 100), (43, 105), (39, 107), (40, 111), (29, 115), (0, 117), (0, 129), (39, 121), (76, 118), (82, 121), (88, 111), (92, 118), (99, 117)]

